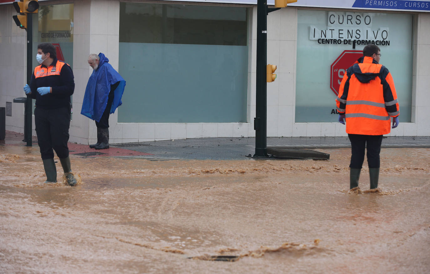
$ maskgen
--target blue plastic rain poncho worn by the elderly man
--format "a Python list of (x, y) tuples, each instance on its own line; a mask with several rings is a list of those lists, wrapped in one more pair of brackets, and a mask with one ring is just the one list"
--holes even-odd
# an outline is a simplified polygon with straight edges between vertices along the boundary
[(107, 105), (107, 96), (111, 91), (111, 85), (120, 82), (114, 90), (114, 102), (112, 102), (110, 113), (122, 105), (121, 97), (124, 93), (126, 81), (111, 66), (109, 59), (104, 54), (99, 53), (100, 62), (98, 68), (92, 71), (86, 84), (85, 95), (83, 96), (81, 114), (97, 122), (100, 121), (101, 115)]

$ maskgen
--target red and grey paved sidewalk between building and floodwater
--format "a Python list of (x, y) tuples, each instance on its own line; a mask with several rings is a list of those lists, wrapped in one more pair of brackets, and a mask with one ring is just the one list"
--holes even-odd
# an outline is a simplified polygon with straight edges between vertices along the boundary
[[(25, 146), (22, 133), (6, 131), (1, 145)], [(33, 145), (37, 138), (33, 136)], [(255, 138), (195, 138), (153, 142), (113, 144), (110, 148), (95, 150), (88, 145), (69, 142), (70, 154), (74, 157), (126, 157), (152, 160), (243, 160), (255, 153)], [(268, 137), (267, 147), (283, 146), (296, 149), (349, 148), (347, 137)], [(430, 136), (384, 137), (383, 148), (430, 148)]]

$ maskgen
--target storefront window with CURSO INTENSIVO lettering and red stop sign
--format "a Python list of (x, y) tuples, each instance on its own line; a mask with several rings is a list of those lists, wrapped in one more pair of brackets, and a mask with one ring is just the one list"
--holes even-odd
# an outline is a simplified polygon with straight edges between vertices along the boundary
[(381, 48), (380, 63), (396, 86), (399, 120), (410, 122), (412, 33), (411, 14), (298, 10), (295, 122), (337, 121), (335, 99), (343, 72), (367, 43)]

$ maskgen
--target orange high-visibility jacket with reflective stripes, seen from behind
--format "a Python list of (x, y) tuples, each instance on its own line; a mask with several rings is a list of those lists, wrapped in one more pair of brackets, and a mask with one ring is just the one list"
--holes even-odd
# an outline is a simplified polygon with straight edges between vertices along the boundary
[(399, 115), (393, 77), (385, 66), (365, 56), (345, 73), (336, 98), (340, 114), (345, 114), (348, 134), (390, 133), (391, 119)]

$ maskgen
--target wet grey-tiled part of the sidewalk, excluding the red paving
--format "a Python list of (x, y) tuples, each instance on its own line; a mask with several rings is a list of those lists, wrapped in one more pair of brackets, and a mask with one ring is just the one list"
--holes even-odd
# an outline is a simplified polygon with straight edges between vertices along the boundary
[[(349, 148), (347, 137), (268, 137), (267, 147)], [(255, 138), (196, 138), (112, 145), (152, 155), (143, 158), (240, 160), (255, 154)], [(384, 148), (430, 148), (430, 136), (386, 137)]]

